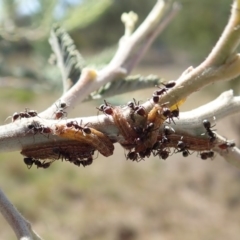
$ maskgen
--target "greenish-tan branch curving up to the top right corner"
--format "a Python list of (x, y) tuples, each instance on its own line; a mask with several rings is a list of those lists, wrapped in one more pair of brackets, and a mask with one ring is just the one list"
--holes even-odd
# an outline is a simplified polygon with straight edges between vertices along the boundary
[(233, 54), (240, 41), (240, 11), (235, 6), (236, 1), (227, 27), (206, 60), (182, 74), (177, 79), (177, 86), (170, 89), (168, 96), (163, 96), (159, 104), (175, 104), (204, 86), (217, 81), (231, 80), (240, 75), (240, 55)]

